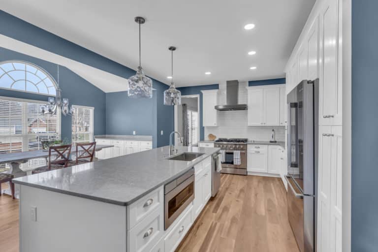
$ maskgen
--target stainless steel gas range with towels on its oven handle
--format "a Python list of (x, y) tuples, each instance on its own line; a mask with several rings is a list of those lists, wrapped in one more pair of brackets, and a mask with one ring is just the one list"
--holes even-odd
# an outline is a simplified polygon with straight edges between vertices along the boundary
[[(214, 147), (224, 151), (221, 173), (247, 175), (247, 142), (246, 138), (219, 138)], [(234, 155), (240, 152), (240, 164), (234, 163)]]

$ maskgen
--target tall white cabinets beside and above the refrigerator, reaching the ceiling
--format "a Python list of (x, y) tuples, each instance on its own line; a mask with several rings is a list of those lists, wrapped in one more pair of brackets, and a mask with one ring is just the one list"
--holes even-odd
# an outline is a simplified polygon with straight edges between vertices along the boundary
[(341, 0), (317, 0), (286, 65), (286, 94), (319, 78), (318, 252), (342, 252), (341, 10)]

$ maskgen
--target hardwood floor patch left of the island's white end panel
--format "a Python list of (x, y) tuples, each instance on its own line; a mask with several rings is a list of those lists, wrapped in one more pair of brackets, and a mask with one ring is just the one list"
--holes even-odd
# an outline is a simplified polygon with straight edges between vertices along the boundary
[[(6, 188), (6, 185), (2, 185)], [(18, 200), (0, 196), (0, 251), (18, 252)]]

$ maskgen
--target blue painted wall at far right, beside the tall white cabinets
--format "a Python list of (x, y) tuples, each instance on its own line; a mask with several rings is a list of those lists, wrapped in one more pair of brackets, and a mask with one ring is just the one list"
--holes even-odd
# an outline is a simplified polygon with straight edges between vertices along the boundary
[(377, 0), (352, 0), (353, 252), (378, 250), (377, 9)]

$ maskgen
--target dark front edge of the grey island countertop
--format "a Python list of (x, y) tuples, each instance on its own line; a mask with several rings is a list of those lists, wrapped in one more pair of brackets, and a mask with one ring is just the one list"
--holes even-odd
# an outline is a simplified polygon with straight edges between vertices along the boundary
[[(185, 172), (187, 172), (190, 168), (192, 168), (194, 165), (196, 165), (199, 162), (202, 162), (204, 159), (206, 159), (208, 157), (211, 157), (214, 153), (216, 153), (217, 151), (220, 150), (220, 148), (214, 148), (214, 149), (218, 149), (218, 150), (216, 150), (216, 151), (214, 151), (214, 152), (212, 152), (210, 154), (205, 154), (205, 157), (203, 157), (200, 160), (192, 163), (186, 169), (182, 170), (181, 172), (179, 172), (179, 173), (175, 174), (174, 176), (170, 177), (169, 179), (164, 180), (163, 182), (159, 183), (158, 185), (152, 187), (151, 189), (146, 190), (145, 192), (139, 194), (135, 198), (133, 198), (133, 199), (131, 199), (129, 201), (126, 201), (126, 202), (125, 201), (118, 201), (118, 200), (112, 200), (112, 199), (102, 198), (102, 197), (91, 196), (91, 195), (88, 195), (88, 194), (77, 193), (77, 192), (67, 191), (67, 190), (63, 190), (63, 189), (56, 189), (56, 188), (52, 188), (52, 187), (45, 187), (45, 186), (41, 186), (41, 185), (36, 185), (36, 184), (32, 184), (32, 183), (23, 182), (23, 181), (17, 180), (17, 178), (13, 179), (12, 182), (14, 184), (19, 184), (19, 185), (23, 185), (23, 186), (28, 186), (28, 187), (38, 188), (38, 189), (44, 189), (44, 190), (49, 190), (49, 191), (54, 191), (54, 192), (63, 193), (63, 194), (71, 195), (71, 196), (76, 196), (76, 197), (81, 197), (81, 198), (96, 200), (96, 201), (100, 201), (100, 202), (104, 202), (104, 203), (109, 203), (109, 204), (114, 204), (114, 205), (119, 205), (119, 206), (129, 206), (132, 203), (134, 203), (135, 201), (137, 201), (138, 199), (140, 199), (143, 196), (145, 196), (146, 194), (150, 193), (151, 191), (153, 191), (153, 190), (159, 188), (160, 186), (164, 185), (165, 183), (167, 183), (167, 182), (169, 182), (171, 180), (174, 180), (175, 178), (181, 176), (182, 174), (184, 174)], [(67, 168), (69, 168), (69, 167), (67, 167)], [(65, 168), (63, 168), (63, 169), (65, 169)]]

